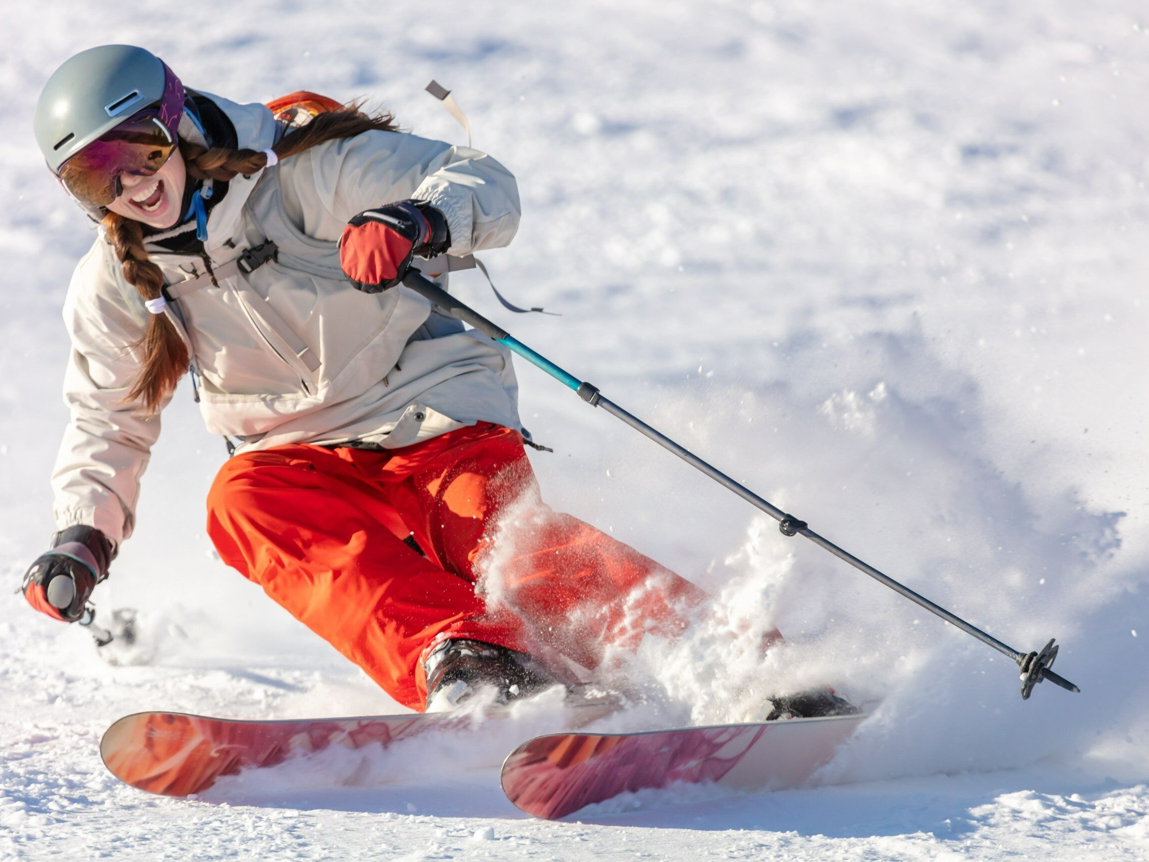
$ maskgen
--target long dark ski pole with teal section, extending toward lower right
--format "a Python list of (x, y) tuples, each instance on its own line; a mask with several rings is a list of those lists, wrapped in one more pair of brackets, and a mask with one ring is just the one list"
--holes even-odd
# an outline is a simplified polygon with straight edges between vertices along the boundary
[(492, 323), (486, 317), (484, 317), (469, 306), (464, 305), (463, 302), (460, 302), (457, 299), (455, 299), (445, 290), (439, 287), (437, 284), (424, 277), (417, 270), (414, 269), (408, 270), (407, 275), (403, 276), (403, 285), (415, 291), (419, 295), (426, 298), (427, 300), (430, 300), (431, 303), (435, 306), (441, 314), (447, 315), (448, 317), (454, 317), (455, 320), (462, 321), (463, 323), (468, 323), (475, 329), (479, 330), (479, 332), (483, 332), (484, 334), (493, 338), (495, 341), (506, 345), (512, 352), (517, 353), (519, 356), (525, 359), (527, 362), (537, 365), (538, 368), (541, 368), (543, 371), (546, 371), (548, 375), (554, 377), (560, 383), (564, 384), (571, 390), (574, 390), (574, 392), (578, 393), (579, 398), (581, 398), (592, 407), (601, 407), (610, 415), (625, 422), (627, 425), (633, 428), (639, 433), (645, 434), (646, 437), (657, 442), (664, 449), (672, 452), (673, 454), (683, 459), (683, 461), (685, 461), (686, 463), (691, 464), (697, 470), (701, 470), (711, 479), (717, 482), (719, 485), (723, 485), (724, 487), (733, 491), (735, 494), (741, 497), (751, 506), (755, 506), (756, 508), (766, 513), (768, 515), (770, 515), (770, 517), (772, 517), (774, 521), (778, 522), (778, 529), (781, 531), (782, 536), (787, 537), (804, 536), (815, 545), (825, 548), (840, 560), (845, 560), (858, 571), (862, 571), (869, 575), (874, 580), (885, 584), (894, 592), (904, 595), (907, 599), (925, 608), (931, 614), (940, 616), (950, 625), (961, 629), (966, 634), (973, 636), (982, 644), (987, 644), (997, 652), (1008, 655), (1010, 659), (1017, 662), (1018, 667), (1021, 670), (1020, 678), (1021, 678), (1023, 700), (1028, 699), (1030, 694), (1033, 692), (1033, 686), (1043, 679), (1048, 679), (1055, 685), (1059, 685), (1062, 688), (1065, 688), (1071, 692), (1081, 691), (1075, 685), (1073, 685), (1073, 683), (1069, 682), (1064, 677), (1058, 676), (1050, 669), (1052, 667), (1054, 660), (1057, 657), (1057, 646), (1054, 645), (1054, 640), (1050, 640), (1048, 644), (1046, 644), (1046, 646), (1040, 652), (1031, 652), (1031, 653), (1021, 653), (1015, 649), (1013, 647), (1009, 646), (1008, 644), (1003, 644), (1002, 641), (997, 640), (997, 638), (987, 634), (986, 632), (978, 629), (976, 625), (971, 625), (970, 623), (962, 619), (959, 616), (951, 614), (940, 605), (935, 605), (934, 602), (926, 599), (924, 595), (916, 593), (904, 584), (900, 584), (888, 575), (878, 571), (869, 563), (859, 560), (849, 552), (838, 547), (828, 539), (819, 536), (813, 530), (811, 530), (804, 521), (800, 521), (793, 515), (788, 515), (787, 513), (782, 511), (777, 506), (773, 506), (769, 501), (755, 494), (745, 485), (739, 484), (734, 479), (726, 476), (726, 474), (711, 467), (694, 453), (689, 452), (685, 447), (674, 442), (657, 429), (651, 428), (650, 425), (648, 425), (633, 414), (627, 413), (622, 407), (616, 405), (614, 401), (610, 401), (608, 398), (606, 398), (601, 392), (599, 392), (599, 388), (596, 386), (587, 383), (586, 380), (578, 379), (573, 375), (568, 374), (566, 371), (561, 369), (558, 365), (548, 360), (546, 356), (535, 353), (525, 344), (523, 344), (517, 338), (507, 332), (507, 330)]

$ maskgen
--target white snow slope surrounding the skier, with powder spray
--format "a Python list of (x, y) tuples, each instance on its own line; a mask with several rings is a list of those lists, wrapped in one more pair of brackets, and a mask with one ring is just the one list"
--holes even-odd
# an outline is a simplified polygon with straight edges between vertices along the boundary
[[(0, 95), (0, 854), (116, 859), (1149, 856), (1149, 15), (1141, 2), (261, 0), (15, 5)], [(531, 368), (545, 494), (719, 597), (630, 660), (663, 717), (770, 690), (881, 700), (812, 786), (638, 794), (522, 818), (468, 757), (378, 787), (149, 798), (103, 770), (113, 719), (165, 708), (394, 711), (225, 569), (225, 457), (180, 391), (100, 613), (114, 667), (11, 594), (53, 530), (60, 307), (92, 230), (44, 169), (34, 99), (72, 53), (144, 45), (237, 100), (367, 98), (518, 177), (523, 224), (453, 290), (833, 541), (1007, 642), (1064, 644), (1021, 702), (1008, 661), (772, 522)], [(778, 625), (768, 667), (740, 638)], [(740, 634), (741, 632), (741, 634)], [(1139, 637), (1140, 634), (1140, 637)], [(647, 716), (650, 718), (650, 716)], [(442, 753), (439, 753), (440, 755)], [(461, 765), (462, 764), (462, 765)], [(487, 830), (489, 828), (489, 831)]]

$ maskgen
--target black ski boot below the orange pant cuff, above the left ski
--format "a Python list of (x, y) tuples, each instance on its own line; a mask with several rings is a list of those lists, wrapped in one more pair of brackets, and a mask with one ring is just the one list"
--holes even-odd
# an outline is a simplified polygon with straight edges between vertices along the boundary
[(465, 638), (439, 644), (423, 662), (423, 669), (427, 676), (429, 713), (454, 709), (484, 687), (494, 688), (494, 702), (506, 705), (560, 684), (526, 653)]

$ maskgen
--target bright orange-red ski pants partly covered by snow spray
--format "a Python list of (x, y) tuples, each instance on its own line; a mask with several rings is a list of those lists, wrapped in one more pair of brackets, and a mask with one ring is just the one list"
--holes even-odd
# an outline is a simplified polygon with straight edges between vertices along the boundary
[(398, 449), (236, 455), (208, 494), (208, 533), (224, 562), (415, 709), (422, 660), (442, 638), (593, 669), (608, 645), (683, 631), (704, 598), (542, 503), (522, 437), (491, 423)]

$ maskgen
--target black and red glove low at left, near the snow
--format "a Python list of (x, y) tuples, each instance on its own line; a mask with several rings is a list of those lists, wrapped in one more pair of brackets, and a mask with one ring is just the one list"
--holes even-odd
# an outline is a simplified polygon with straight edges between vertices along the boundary
[(108, 537), (94, 526), (69, 526), (52, 537), (52, 549), (24, 575), (24, 598), (41, 614), (75, 623), (95, 585), (108, 577), (114, 556)]

